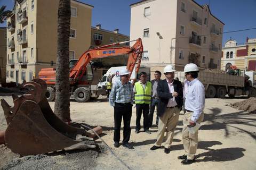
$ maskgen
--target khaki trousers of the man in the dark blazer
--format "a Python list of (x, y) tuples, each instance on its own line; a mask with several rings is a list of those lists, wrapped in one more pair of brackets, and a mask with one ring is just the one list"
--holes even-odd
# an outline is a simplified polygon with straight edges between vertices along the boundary
[(166, 131), (166, 141), (164, 147), (167, 149), (171, 147), (174, 130), (179, 121), (179, 114), (180, 109), (178, 107), (166, 108), (164, 115), (159, 117), (157, 141), (155, 146), (161, 147), (164, 138), (164, 132)]

